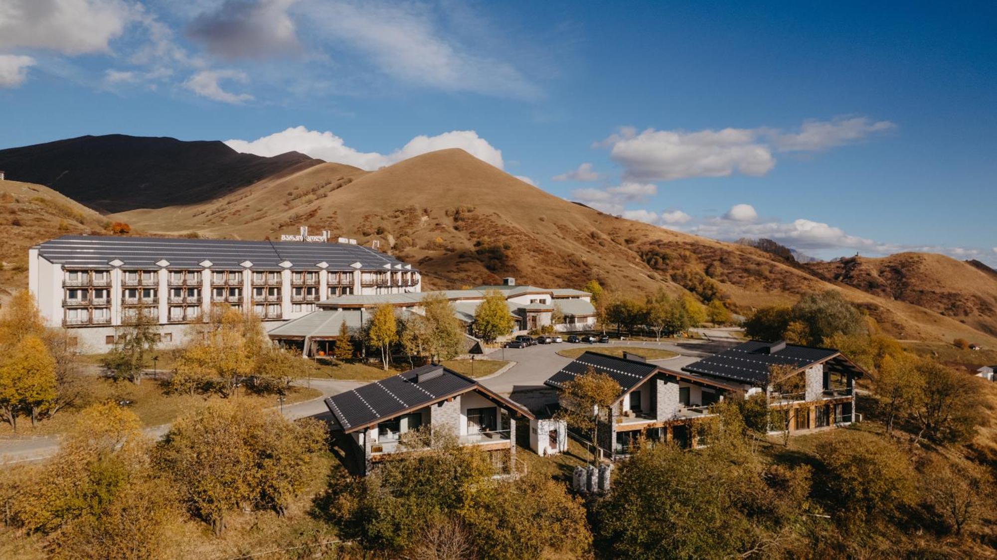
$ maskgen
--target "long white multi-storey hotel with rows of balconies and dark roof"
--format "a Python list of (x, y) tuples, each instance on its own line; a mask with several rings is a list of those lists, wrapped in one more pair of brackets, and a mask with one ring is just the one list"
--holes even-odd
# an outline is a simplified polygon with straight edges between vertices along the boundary
[(419, 271), (356, 241), (235, 241), (67, 235), (29, 250), (29, 288), (50, 326), (93, 351), (139, 314), (165, 346), (225, 303), (266, 329), (336, 297), (419, 292)]

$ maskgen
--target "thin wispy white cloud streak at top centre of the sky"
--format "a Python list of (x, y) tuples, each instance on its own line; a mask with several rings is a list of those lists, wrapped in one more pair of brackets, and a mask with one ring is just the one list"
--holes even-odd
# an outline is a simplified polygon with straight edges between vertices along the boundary
[(300, 10), (317, 37), (334, 48), (363, 52), (379, 71), (402, 82), (514, 98), (540, 94), (512, 65), (474, 54), (445, 34), (432, 6), (305, 0)]

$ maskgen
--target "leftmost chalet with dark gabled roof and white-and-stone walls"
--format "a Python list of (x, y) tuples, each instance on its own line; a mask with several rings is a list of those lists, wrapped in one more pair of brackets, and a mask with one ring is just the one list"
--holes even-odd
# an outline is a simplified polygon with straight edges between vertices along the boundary
[[(477, 381), (439, 365), (427, 365), (325, 400), (332, 431), (359, 474), (399, 453), (426, 448), (433, 440), (456, 437), (515, 458), (516, 419), (529, 411)], [(407, 438), (422, 428), (425, 437)], [(413, 434), (410, 434), (410, 436)], [(498, 457), (497, 457), (498, 460)]]

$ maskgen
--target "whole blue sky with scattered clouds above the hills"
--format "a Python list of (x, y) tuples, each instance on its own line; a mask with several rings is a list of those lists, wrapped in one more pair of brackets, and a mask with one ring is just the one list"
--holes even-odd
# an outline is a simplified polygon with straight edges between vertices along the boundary
[(997, 265), (995, 28), (992, 2), (2, 0), (0, 147), (464, 147), (662, 227)]

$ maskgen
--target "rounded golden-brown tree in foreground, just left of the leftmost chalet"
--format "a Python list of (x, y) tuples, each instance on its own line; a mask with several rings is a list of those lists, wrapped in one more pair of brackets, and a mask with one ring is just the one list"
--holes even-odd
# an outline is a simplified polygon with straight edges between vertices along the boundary
[(313, 420), (219, 402), (176, 420), (156, 461), (182, 502), (221, 534), (227, 513), (243, 504), (283, 514), (303, 488), (321, 434)]

